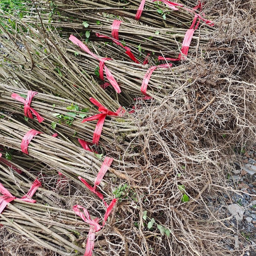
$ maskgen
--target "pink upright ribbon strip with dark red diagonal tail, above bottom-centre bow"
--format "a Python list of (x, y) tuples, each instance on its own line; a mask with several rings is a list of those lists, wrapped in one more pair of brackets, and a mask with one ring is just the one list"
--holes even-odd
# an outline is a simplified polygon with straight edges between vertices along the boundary
[(106, 174), (106, 172), (108, 171), (108, 168), (110, 167), (111, 163), (113, 161), (113, 158), (111, 157), (105, 157), (102, 165), (101, 165), (101, 168), (98, 172), (98, 175), (94, 181), (94, 186), (92, 187), (87, 181), (85, 181), (81, 176), (78, 176), (78, 179), (80, 181), (83, 182), (83, 184), (91, 191), (93, 192), (95, 195), (97, 195), (101, 200), (103, 200), (103, 203), (106, 205), (106, 207), (108, 207), (108, 204), (104, 201), (104, 197), (103, 195), (97, 191), (97, 186), (100, 184), (102, 178), (104, 177), (104, 175)]

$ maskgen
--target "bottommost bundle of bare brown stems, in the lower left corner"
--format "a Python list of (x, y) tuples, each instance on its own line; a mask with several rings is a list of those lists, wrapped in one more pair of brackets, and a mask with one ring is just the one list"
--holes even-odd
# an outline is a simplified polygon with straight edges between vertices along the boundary
[(0, 224), (61, 255), (84, 253), (78, 238), (88, 228), (73, 211), (14, 200), (0, 214)]

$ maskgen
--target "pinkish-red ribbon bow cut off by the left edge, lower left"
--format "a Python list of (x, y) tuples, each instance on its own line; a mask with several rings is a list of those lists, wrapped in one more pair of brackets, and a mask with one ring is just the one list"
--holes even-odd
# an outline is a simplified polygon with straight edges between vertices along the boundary
[(28, 193), (22, 198), (16, 198), (16, 196), (13, 196), (4, 186), (2, 183), (0, 183), (0, 193), (2, 196), (0, 196), (0, 213), (6, 208), (6, 205), (10, 203), (11, 201), (18, 199), (21, 201), (29, 202), (29, 203), (36, 203), (36, 200), (30, 199), (36, 192), (37, 188), (41, 185), (40, 181), (37, 179), (33, 182), (31, 185), (31, 188), (29, 189)]

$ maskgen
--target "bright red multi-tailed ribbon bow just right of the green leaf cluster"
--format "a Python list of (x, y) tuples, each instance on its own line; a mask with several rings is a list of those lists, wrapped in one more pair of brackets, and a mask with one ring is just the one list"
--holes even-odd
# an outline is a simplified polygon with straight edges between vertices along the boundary
[(104, 121), (106, 119), (107, 116), (118, 116), (117, 113), (112, 112), (110, 110), (108, 110), (107, 108), (105, 108), (100, 102), (98, 102), (97, 100), (93, 99), (92, 97), (90, 97), (90, 101), (97, 106), (99, 109), (99, 111), (101, 112), (100, 114), (94, 115), (92, 117), (87, 117), (85, 118), (83, 122), (87, 122), (87, 121), (93, 121), (93, 120), (98, 120), (98, 123), (95, 127), (94, 133), (93, 133), (93, 138), (92, 138), (92, 143), (98, 145), (99, 144), (99, 140), (100, 140), (100, 135), (102, 132), (102, 128), (103, 128), (103, 124)]

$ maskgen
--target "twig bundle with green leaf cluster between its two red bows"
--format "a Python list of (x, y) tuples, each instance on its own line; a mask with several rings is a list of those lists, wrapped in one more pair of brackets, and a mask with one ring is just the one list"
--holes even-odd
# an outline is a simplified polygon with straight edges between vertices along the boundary
[[(28, 91), (14, 88), (5, 84), (0, 84), (0, 93), (1, 108), (9, 113), (19, 113), (22, 115), (22, 119), (24, 119), (24, 110), (20, 108), (20, 106), (23, 104), (12, 98), (12, 95), (21, 95), (20, 97), (26, 98)], [(38, 111), (39, 115), (44, 118), (44, 121), (40, 126), (42, 127), (43, 125), (46, 125), (47, 130), (50, 131), (49, 135), (57, 133), (60, 136), (65, 135), (70, 138), (80, 138), (92, 143), (97, 121), (82, 123), (82, 120), (85, 117), (93, 116), (99, 113), (99, 111), (91, 108), (93, 106), (92, 103), (90, 106), (85, 106), (84, 104), (80, 104), (68, 99), (49, 94), (37, 93), (33, 97), (30, 106)], [(121, 113), (122, 111), (120, 114)], [(34, 118), (36, 117), (34, 116)], [(34, 121), (35, 122), (33, 125), (38, 122), (36, 119)], [(39, 128), (40, 126), (38, 124), (37, 127)], [(51, 130), (49, 130), (49, 128)], [(140, 130), (141, 129), (143, 128), (140, 128)], [(135, 126), (130, 118), (110, 116), (104, 121), (103, 129), (100, 135), (100, 145), (105, 148), (109, 147), (114, 139), (119, 138), (119, 141), (121, 142), (125, 139), (129, 139), (129, 136), (137, 136), (138, 132), (138, 126)]]

